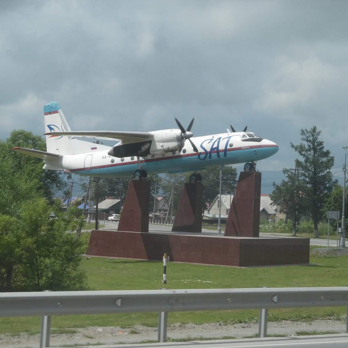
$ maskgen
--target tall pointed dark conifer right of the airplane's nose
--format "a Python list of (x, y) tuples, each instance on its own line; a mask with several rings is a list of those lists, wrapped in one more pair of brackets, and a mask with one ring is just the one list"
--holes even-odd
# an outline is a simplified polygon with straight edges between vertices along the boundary
[(303, 157), (296, 159), (295, 164), (300, 169), (300, 178), (306, 184), (304, 196), (308, 199), (311, 218), (314, 222), (315, 237), (319, 237), (318, 222), (322, 217), (325, 200), (330, 196), (335, 181), (330, 169), (334, 164), (334, 157), (330, 150), (325, 150), (321, 140), (321, 131), (313, 126), (311, 129), (301, 129), (302, 142), (298, 145), (291, 143), (291, 147)]

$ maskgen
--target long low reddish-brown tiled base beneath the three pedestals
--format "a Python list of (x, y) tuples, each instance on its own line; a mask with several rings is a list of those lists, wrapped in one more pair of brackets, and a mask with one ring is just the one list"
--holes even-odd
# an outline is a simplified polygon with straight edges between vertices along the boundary
[(93, 230), (87, 255), (225, 266), (309, 263), (309, 238), (246, 238)]

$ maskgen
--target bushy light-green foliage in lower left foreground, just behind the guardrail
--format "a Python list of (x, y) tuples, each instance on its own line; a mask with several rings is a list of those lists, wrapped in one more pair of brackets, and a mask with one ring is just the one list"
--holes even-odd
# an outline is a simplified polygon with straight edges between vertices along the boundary
[(82, 290), (86, 276), (79, 269), (83, 241), (76, 230), (76, 207), (51, 220), (52, 206), (38, 197), (23, 202), (15, 223), (0, 215), (0, 291)]

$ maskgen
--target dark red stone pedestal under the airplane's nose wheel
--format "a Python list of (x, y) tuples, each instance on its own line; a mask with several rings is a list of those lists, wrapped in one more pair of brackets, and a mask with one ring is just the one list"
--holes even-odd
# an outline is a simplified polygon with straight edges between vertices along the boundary
[(228, 214), (225, 236), (259, 237), (261, 173), (241, 172)]

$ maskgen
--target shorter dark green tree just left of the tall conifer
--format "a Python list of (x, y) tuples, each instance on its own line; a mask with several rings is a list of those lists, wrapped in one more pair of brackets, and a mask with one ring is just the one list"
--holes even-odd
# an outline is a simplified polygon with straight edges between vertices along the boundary
[(279, 185), (273, 183), (274, 190), (270, 194), (271, 205), (279, 205), (279, 212), (287, 214), (292, 222), (292, 234), (296, 236), (296, 226), (300, 222), (300, 217), (306, 214), (308, 200), (303, 193), (306, 192), (306, 184), (299, 178), (298, 173), (291, 172), (290, 169), (283, 169), (287, 180), (282, 180)]

